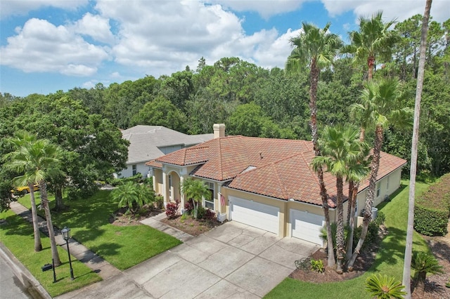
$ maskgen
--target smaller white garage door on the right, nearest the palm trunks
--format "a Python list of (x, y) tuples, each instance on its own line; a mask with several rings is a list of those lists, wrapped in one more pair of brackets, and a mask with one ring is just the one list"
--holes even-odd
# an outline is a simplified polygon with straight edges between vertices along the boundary
[(321, 228), (325, 224), (323, 216), (291, 209), (290, 224), (293, 237), (323, 245), (322, 239), (319, 237)]

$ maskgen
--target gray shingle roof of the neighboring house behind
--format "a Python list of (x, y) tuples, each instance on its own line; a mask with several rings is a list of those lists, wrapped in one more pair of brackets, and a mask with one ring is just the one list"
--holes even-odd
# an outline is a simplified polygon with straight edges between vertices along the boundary
[(122, 131), (129, 140), (127, 164), (150, 161), (163, 156), (162, 147), (190, 147), (211, 140), (214, 134), (186, 135), (164, 126), (134, 126)]

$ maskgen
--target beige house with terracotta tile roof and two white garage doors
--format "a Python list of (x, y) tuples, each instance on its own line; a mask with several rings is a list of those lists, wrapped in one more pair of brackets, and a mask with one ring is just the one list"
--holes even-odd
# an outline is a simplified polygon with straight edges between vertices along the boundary
[[(319, 182), (310, 165), (313, 158), (310, 141), (224, 137), (224, 130), (219, 133), (214, 128), (213, 140), (167, 154), (148, 166), (153, 167), (155, 192), (163, 195), (165, 203), (180, 200), (184, 206), (180, 185), (191, 176), (210, 188), (214, 199), (204, 199), (203, 206), (221, 217), (279, 237), (323, 245), (319, 231), (324, 217)], [(405, 164), (404, 159), (381, 153), (374, 206), (399, 188)], [(330, 196), (330, 220), (335, 221), (335, 177), (325, 173), (324, 180)], [(361, 215), (365, 206), (367, 187), (368, 180), (361, 182), (356, 215)], [(348, 192), (347, 185), (344, 190)], [(347, 200), (344, 211), (347, 213)]]

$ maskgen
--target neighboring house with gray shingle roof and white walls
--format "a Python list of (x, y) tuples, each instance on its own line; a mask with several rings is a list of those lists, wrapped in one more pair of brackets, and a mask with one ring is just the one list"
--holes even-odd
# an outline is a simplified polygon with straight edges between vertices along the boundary
[(198, 145), (211, 140), (213, 134), (186, 135), (164, 126), (134, 126), (122, 131), (122, 137), (129, 140), (127, 168), (117, 174), (127, 178), (141, 173), (143, 178), (151, 177), (151, 168), (146, 162), (176, 150)]

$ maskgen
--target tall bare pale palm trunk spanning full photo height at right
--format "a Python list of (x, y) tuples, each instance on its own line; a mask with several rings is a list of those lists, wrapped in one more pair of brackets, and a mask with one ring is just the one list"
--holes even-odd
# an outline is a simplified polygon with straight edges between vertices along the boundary
[(422, 99), (423, 77), (425, 74), (425, 49), (427, 46), (428, 20), (430, 18), (432, 0), (427, 0), (425, 4), (425, 13), (422, 20), (422, 34), (420, 37), (420, 57), (417, 74), (416, 103), (414, 105), (414, 124), (413, 141), (411, 145), (411, 168), (409, 172), (409, 206), (408, 206), (408, 226), (406, 229), (406, 246), (403, 267), (402, 284), (406, 291), (405, 298), (411, 298), (411, 257), (413, 251), (413, 232), (414, 232), (414, 201), (416, 195), (416, 168), (417, 168), (417, 147), (419, 139), (419, 120), (420, 120), (420, 100)]

